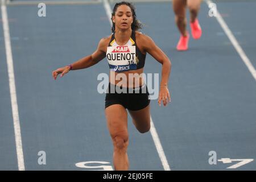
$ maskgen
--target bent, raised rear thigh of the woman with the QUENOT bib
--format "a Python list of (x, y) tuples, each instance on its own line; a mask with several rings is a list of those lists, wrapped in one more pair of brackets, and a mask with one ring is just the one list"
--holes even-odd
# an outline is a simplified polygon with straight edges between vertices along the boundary
[(139, 132), (146, 133), (150, 130), (150, 105), (141, 110), (129, 110), (129, 113)]

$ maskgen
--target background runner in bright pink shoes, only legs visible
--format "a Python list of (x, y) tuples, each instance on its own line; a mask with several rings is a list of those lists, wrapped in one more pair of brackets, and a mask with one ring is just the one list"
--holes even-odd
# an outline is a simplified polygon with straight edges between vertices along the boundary
[(172, 0), (172, 6), (175, 13), (175, 22), (180, 31), (180, 40), (177, 43), (178, 51), (188, 49), (189, 34), (187, 31), (186, 8), (190, 13), (191, 33), (194, 39), (200, 39), (202, 30), (197, 19), (200, 10), (201, 0)]

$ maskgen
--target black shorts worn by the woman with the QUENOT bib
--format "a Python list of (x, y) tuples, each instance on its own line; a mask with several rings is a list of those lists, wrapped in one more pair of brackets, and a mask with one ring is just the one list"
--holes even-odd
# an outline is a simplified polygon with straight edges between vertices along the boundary
[(150, 104), (147, 86), (122, 88), (109, 83), (105, 97), (105, 109), (113, 104), (121, 104), (125, 109), (140, 110)]

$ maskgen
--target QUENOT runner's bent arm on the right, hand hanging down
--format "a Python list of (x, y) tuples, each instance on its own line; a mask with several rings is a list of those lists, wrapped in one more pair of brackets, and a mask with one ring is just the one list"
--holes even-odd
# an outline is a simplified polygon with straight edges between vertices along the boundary
[(148, 52), (152, 57), (155, 58), (159, 63), (162, 64), (162, 80), (160, 82), (160, 92), (158, 98), (158, 104), (163, 101), (164, 106), (167, 104), (167, 98), (171, 102), (170, 93), (168, 91), (168, 79), (171, 73), (171, 61), (168, 59), (166, 54), (154, 43), (154, 41), (146, 35), (142, 35), (142, 49)]

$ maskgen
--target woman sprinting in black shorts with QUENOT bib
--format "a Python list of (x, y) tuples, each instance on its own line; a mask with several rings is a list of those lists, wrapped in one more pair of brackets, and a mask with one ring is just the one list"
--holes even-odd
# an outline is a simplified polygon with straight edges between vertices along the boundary
[[(111, 90), (111, 87), (114, 86), (114, 92), (106, 93), (105, 116), (113, 140), (114, 169), (128, 170), (127, 110), (139, 132), (146, 133), (150, 130), (150, 100), (148, 99), (147, 89), (144, 93), (141, 92), (147, 86), (145, 86), (142, 77), (134, 78), (134, 82), (139, 83), (137, 86), (134, 82), (129, 82), (129, 73), (131, 75), (143, 73), (147, 52), (159, 61), (162, 64), (162, 80), (160, 82), (158, 104), (160, 105), (163, 102), (163, 105), (166, 106), (167, 102), (171, 101), (167, 85), (171, 71), (171, 61), (150, 37), (137, 31), (141, 28), (141, 24), (136, 18), (135, 8), (131, 3), (116, 3), (112, 13), (112, 22), (113, 34), (108, 38), (101, 39), (97, 50), (92, 55), (86, 56), (71, 65), (56, 69), (52, 72), (52, 77), (56, 80), (59, 74), (62, 77), (70, 70), (89, 68), (107, 57), (110, 67), (108, 89)], [(120, 81), (115, 79), (119, 74), (126, 76), (126, 79), (122, 80), (122, 86), (118, 86)], [(114, 76), (112, 77), (112, 75)], [(129, 92), (126, 90), (117, 93), (117, 88), (127, 89)], [(130, 93), (130, 90), (137, 90), (137, 92), (139, 90), (139, 93)]]

